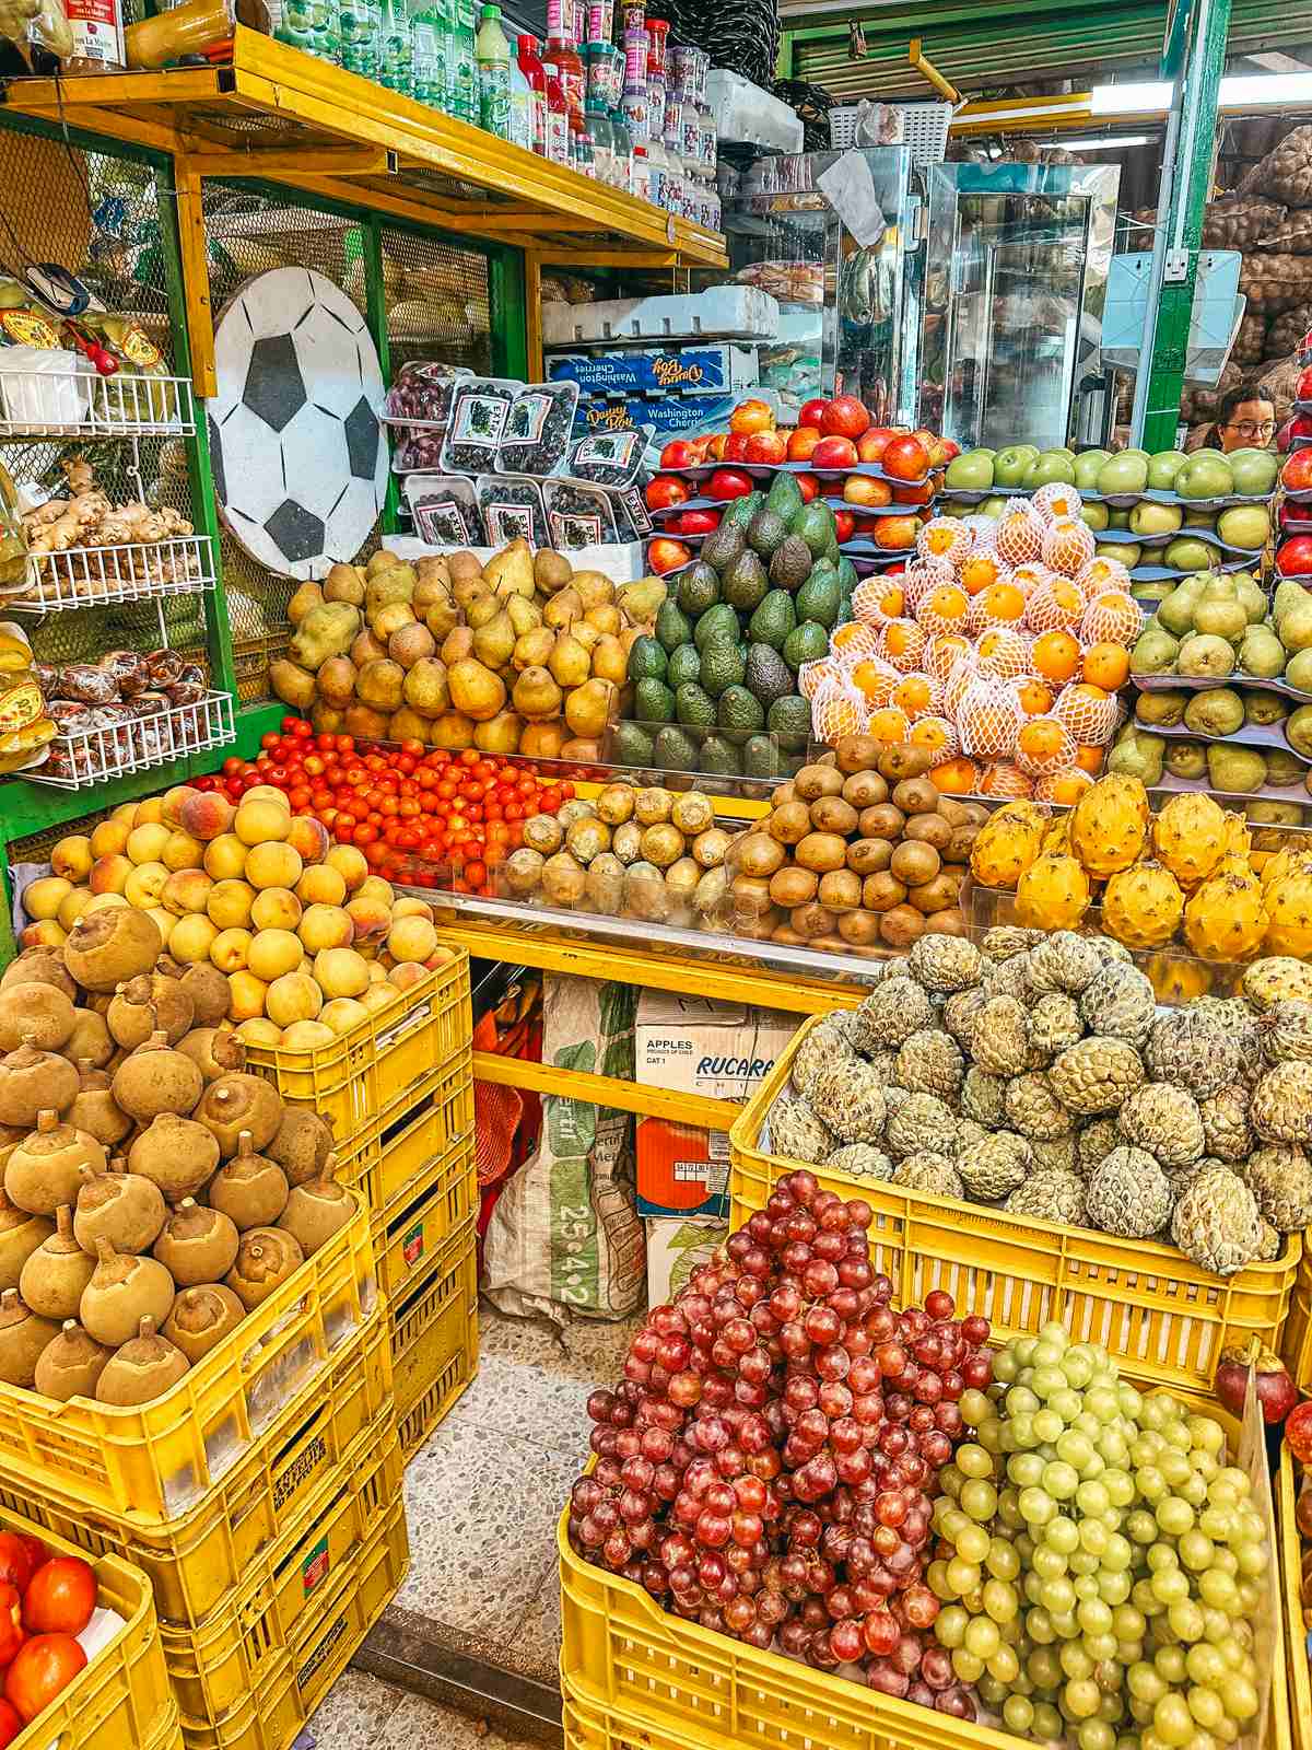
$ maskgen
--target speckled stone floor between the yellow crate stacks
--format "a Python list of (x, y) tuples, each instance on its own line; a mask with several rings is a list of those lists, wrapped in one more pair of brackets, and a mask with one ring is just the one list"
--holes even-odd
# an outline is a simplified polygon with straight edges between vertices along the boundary
[[(584, 1404), (637, 1321), (544, 1323), (479, 1307), (479, 1374), (406, 1470), (411, 1566), (383, 1615), (430, 1647), (555, 1687), (556, 1519), (586, 1454)], [(318, 1750), (521, 1750), (420, 1696), (348, 1671), (310, 1722)]]

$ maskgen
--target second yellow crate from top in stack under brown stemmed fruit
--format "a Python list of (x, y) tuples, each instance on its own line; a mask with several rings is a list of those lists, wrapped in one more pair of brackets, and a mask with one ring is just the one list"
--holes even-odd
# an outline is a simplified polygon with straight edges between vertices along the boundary
[(331, 1370), (315, 1374), (182, 1519), (159, 1526), (136, 1514), (98, 1514), (49, 1489), (40, 1498), (0, 1489), (0, 1505), (26, 1505), (42, 1535), (52, 1531), (91, 1556), (133, 1563), (150, 1580), (161, 1619), (196, 1628), (259, 1550), (306, 1519), (324, 1477), (366, 1460), (390, 1424), (392, 1320), (380, 1300), (334, 1353)]

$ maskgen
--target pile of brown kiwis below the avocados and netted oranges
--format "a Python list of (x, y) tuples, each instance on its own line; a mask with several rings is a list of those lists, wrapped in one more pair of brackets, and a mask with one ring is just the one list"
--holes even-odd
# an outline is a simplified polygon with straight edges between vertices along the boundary
[(988, 817), (943, 796), (922, 747), (845, 735), (771, 796), (726, 856), (733, 928), (840, 954), (904, 954), (938, 931), (966, 934), (960, 887)]

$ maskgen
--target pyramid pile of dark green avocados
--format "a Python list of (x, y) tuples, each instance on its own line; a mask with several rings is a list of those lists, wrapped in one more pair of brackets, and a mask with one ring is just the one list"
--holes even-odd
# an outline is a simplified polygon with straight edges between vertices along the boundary
[(827, 504), (792, 474), (735, 499), (691, 565), (666, 578), (653, 637), (628, 656), (612, 758), (666, 772), (784, 777), (812, 728), (798, 670), (852, 618), (857, 574)]

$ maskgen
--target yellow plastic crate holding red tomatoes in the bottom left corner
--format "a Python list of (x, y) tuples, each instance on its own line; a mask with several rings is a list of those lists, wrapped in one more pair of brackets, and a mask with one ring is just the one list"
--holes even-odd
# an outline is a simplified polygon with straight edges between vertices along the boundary
[[(0, 1530), (44, 1538), (52, 1554), (82, 1556), (75, 1544), (51, 1536), (26, 1514), (0, 1508)], [(91, 1659), (72, 1684), (14, 1738), (10, 1750), (124, 1750), (126, 1745), (156, 1743), (164, 1750), (173, 1740), (173, 1701), (168, 1692), (164, 1650), (150, 1582), (119, 1556), (93, 1563), (100, 1603), (117, 1610), (122, 1628)]]

